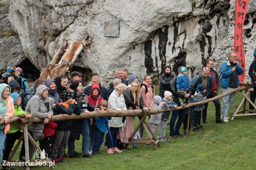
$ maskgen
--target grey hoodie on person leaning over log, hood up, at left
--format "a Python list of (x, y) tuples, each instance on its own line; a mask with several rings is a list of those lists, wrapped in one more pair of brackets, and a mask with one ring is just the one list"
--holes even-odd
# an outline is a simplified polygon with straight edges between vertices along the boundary
[[(53, 115), (49, 97), (44, 99), (42, 92), (48, 89), (45, 85), (40, 85), (36, 89), (36, 94), (28, 101), (25, 112), (31, 113), (33, 116), (45, 119), (48, 114)], [(49, 89), (48, 89), (49, 91)], [(28, 130), (35, 132), (43, 132), (44, 122), (32, 123)]]

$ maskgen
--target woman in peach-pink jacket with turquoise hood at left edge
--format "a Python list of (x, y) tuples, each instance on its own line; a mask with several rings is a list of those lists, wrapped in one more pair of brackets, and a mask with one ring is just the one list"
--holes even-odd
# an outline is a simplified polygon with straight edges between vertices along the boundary
[(0, 125), (0, 160), (2, 161), (5, 133), (10, 130), (9, 118), (14, 114), (13, 98), (10, 96), (11, 88), (7, 84), (0, 84), (0, 120), (4, 119), (5, 125)]

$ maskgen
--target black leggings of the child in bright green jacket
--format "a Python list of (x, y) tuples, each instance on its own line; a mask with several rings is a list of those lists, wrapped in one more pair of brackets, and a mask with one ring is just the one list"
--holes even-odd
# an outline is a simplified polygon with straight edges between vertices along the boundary
[[(19, 138), (21, 137), (23, 132), (21, 131), (17, 131), (15, 133), (9, 133), (7, 134), (7, 139), (6, 139), (6, 146), (5, 146), (5, 151), (3, 154), (3, 161), (7, 161), (10, 155), (10, 152), (13, 148), (13, 145), (15, 143), (16, 140), (19, 140)], [(24, 138), (23, 138), (23, 142), (22, 142), (22, 147), (21, 147), (21, 151), (20, 151), (20, 155), (25, 155), (25, 145), (24, 145)]]

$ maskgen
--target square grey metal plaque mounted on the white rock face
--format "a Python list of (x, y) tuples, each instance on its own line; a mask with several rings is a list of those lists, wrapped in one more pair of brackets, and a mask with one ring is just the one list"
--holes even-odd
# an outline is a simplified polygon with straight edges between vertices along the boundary
[(103, 35), (105, 37), (119, 37), (119, 21), (104, 21)]

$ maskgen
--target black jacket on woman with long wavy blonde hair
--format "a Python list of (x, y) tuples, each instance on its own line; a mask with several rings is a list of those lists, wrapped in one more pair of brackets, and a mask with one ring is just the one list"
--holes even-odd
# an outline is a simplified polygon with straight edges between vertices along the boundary
[(134, 104), (134, 98), (132, 97), (132, 92), (129, 89), (126, 89), (124, 92), (124, 102), (125, 102), (126, 108), (128, 109), (130, 106), (132, 106), (133, 109), (135, 109), (136, 106), (140, 106), (140, 108), (143, 109), (145, 106), (143, 104), (142, 95), (140, 94), (140, 96), (141, 96), (140, 97), (140, 105), (137, 103), (137, 100)]

